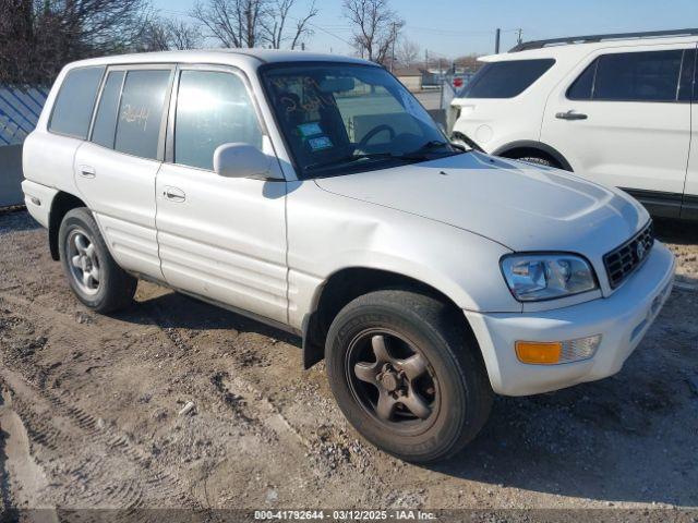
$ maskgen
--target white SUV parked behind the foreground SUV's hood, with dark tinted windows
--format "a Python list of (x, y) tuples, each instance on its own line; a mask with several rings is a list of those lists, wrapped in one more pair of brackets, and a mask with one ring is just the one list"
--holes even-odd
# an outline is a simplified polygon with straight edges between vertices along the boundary
[(697, 42), (698, 29), (598, 35), (484, 57), (452, 101), (452, 137), (698, 219)]

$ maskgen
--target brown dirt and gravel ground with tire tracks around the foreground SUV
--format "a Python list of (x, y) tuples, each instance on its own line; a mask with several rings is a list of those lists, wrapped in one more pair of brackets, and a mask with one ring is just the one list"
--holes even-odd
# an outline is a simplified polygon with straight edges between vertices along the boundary
[(299, 340), (143, 282), (92, 314), (45, 230), (0, 214), (0, 509), (696, 507), (698, 228), (658, 229), (678, 288), (619, 375), (500, 398), (418, 467), (359, 439)]

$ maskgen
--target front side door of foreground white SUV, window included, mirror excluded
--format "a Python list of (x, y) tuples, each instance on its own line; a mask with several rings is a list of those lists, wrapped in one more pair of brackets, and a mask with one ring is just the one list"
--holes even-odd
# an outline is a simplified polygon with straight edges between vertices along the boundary
[(226, 143), (273, 156), (262, 129), (241, 74), (178, 70), (168, 161), (156, 183), (159, 255), (172, 287), (287, 323), (286, 183), (213, 171), (214, 151)]

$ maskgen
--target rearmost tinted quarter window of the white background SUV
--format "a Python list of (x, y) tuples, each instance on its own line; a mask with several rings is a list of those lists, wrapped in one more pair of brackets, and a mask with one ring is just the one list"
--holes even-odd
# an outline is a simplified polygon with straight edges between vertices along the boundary
[(553, 66), (555, 60), (509, 60), (486, 63), (466, 87), (465, 98), (513, 98)]

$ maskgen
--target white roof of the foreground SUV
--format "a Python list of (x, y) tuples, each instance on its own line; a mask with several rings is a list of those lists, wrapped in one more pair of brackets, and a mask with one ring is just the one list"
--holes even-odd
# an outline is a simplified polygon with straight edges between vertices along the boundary
[(200, 49), (189, 51), (158, 51), (139, 52), (132, 54), (116, 54), (111, 57), (91, 58), (70, 64), (71, 66), (85, 66), (97, 64), (127, 64), (127, 63), (233, 63), (236, 61), (254, 61), (262, 63), (280, 62), (347, 62), (372, 64), (368, 60), (346, 57), (342, 54), (316, 53), (308, 51), (286, 51), (278, 49)]

